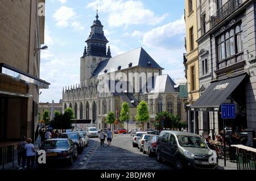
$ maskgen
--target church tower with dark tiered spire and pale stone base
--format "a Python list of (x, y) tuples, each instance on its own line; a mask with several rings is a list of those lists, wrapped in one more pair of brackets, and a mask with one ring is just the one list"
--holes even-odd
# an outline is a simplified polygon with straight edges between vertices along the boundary
[(93, 76), (92, 73), (100, 61), (111, 58), (110, 48), (108, 48), (108, 52), (106, 49), (106, 44), (109, 41), (104, 35), (103, 27), (100, 20), (98, 20), (97, 10), (96, 20), (93, 21), (93, 25), (90, 27), (90, 35), (85, 41), (87, 48), (84, 48), (84, 54), (80, 59), (81, 87), (89, 86), (90, 77)]

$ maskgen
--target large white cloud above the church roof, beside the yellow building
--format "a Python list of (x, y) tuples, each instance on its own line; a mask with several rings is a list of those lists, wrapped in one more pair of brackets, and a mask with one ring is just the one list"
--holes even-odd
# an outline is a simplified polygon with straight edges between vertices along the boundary
[(184, 43), (184, 36), (185, 22), (181, 17), (174, 22), (144, 33), (142, 43), (147, 47), (169, 49), (170, 47), (180, 47)]

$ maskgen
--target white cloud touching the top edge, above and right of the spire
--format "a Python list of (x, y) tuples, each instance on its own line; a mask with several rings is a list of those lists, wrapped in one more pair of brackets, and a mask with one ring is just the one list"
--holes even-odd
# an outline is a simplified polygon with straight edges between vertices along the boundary
[(145, 9), (141, 1), (134, 0), (97, 0), (88, 3), (86, 8), (95, 9), (97, 5), (99, 12), (109, 15), (108, 22), (112, 27), (128, 27), (133, 24), (155, 25), (168, 16), (157, 16), (151, 10)]

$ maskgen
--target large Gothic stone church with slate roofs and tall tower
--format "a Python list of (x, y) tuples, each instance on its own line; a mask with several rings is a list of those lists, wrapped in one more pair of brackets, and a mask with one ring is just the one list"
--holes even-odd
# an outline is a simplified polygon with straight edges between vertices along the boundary
[[(162, 111), (187, 121), (184, 105), (187, 96), (181, 94), (181, 85), (176, 86), (169, 75), (163, 75), (163, 68), (143, 48), (112, 57), (104, 26), (98, 18), (97, 13), (80, 58), (80, 84), (63, 88), (63, 112), (71, 107), (76, 119), (91, 120), (88, 127), (103, 129), (110, 126), (105, 122), (107, 113), (113, 111), (118, 120), (122, 103), (127, 102), (130, 120), (128, 123), (118, 120), (115, 129), (142, 127), (142, 124), (154, 129), (156, 113)], [(150, 120), (145, 123), (135, 120), (141, 100), (148, 103), (150, 112)]]

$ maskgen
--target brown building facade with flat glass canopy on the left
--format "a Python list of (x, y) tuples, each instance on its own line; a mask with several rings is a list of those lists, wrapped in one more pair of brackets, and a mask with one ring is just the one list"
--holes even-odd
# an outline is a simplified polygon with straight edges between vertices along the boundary
[(40, 48), (44, 43), (44, 16), (38, 3), (0, 1), (0, 144), (31, 137), (38, 125)]

